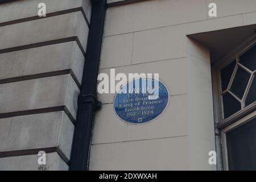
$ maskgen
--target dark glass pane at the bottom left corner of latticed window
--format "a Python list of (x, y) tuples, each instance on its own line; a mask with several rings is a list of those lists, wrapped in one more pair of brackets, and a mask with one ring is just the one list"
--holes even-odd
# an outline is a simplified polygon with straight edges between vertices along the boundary
[(241, 110), (241, 104), (230, 93), (225, 93), (223, 96), (224, 117), (228, 118), (237, 111)]

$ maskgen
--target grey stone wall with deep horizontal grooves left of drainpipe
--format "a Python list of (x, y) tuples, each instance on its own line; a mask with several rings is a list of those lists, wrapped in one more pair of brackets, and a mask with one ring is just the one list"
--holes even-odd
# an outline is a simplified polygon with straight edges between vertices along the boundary
[(68, 169), (90, 11), (89, 0), (0, 5), (0, 170)]

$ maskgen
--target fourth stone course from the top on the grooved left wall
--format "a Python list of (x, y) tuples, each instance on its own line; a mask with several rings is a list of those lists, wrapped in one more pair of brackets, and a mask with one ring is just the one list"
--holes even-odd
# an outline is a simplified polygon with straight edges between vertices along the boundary
[(79, 88), (70, 75), (0, 85), (0, 113), (66, 106), (76, 118)]

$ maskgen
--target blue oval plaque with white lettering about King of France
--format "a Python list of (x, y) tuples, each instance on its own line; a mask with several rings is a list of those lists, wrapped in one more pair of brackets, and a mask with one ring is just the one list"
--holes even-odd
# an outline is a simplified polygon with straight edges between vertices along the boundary
[[(168, 105), (169, 93), (162, 82), (156, 84), (155, 81), (154, 78), (138, 78), (121, 88), (114, 98), (114, 110), (122, 121), (141, 124), (163, 113)], [(153, 88), (154, 92), (148, 88)]]

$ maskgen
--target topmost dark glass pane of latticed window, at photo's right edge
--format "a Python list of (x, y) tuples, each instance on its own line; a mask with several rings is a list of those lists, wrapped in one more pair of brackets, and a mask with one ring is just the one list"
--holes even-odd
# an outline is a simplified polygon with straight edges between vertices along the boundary
[(256, 44), (240, 56), (240, 63), (251, 71), (256, 70)]

